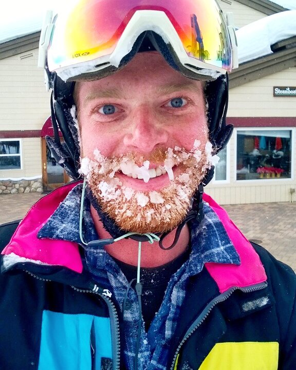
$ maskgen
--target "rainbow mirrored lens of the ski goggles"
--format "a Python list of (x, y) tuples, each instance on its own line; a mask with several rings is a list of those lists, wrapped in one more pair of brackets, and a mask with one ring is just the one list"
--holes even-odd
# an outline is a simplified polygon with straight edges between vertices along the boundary
[(65, 18), (58, 16), (49, 69), (112, 53), (137, 10), (164, 12), (189, 57), (231, 70), (229, 34), (214, 0), (79, 0)]

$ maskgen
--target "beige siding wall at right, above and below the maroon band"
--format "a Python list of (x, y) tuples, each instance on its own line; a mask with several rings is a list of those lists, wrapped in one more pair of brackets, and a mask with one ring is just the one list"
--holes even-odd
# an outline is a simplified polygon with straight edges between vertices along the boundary
[[(273, 75), (232, 88), (229, 94), (227, 117), (249, 117), (258, 123), (256, 117), (291, 117), (293, 127), (268, 127), (270, 130), (292, 131), (292, 178), (264, 180), (236, 180), (236, 132), (228, 143), (229, 179), (224, 182), (212, 181), (206, 192), (220, 204), (245, 204), (261, 202), (295, 201), (291, 189), (296, 188), (296, 97), (273, 97), (273, 86), (296, 86), (296, 68), (289, 68)], [(235, 120), (234, 120), (235, 122)]]

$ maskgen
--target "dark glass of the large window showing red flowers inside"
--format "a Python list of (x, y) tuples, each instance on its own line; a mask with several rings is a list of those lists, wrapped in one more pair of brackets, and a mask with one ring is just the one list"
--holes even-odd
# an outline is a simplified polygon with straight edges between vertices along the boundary
[(236, 179), (291, 177), (290, 130), (237, 130)]

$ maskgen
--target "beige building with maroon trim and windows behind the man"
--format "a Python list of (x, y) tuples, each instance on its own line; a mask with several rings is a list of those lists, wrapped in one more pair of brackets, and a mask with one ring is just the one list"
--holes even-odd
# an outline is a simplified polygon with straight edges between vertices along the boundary
[[(269, 0), (218, 0), (238, 28), (286, 9)], [(40, 32), (0, 44), (0, 193), (47, 191), (68, 181), (45, 142), (52, 136)], [(273, 53), (230, 75), (228, 123), (234, 125), (207, 186), (220, 204), (296, 200), (296, 33)]]

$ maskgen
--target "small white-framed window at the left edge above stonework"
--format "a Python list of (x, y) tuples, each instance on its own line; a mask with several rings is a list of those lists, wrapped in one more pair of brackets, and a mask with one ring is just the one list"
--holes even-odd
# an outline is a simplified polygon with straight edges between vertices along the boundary
[(21, 140), (0, 139), (0, 170), (21, 168)]

